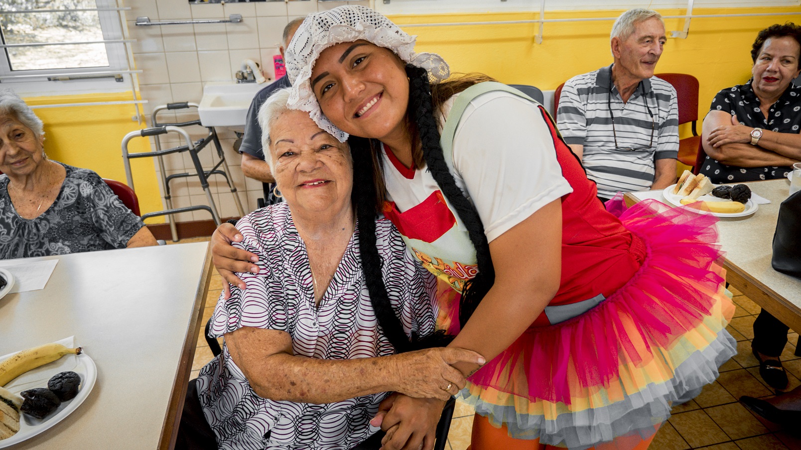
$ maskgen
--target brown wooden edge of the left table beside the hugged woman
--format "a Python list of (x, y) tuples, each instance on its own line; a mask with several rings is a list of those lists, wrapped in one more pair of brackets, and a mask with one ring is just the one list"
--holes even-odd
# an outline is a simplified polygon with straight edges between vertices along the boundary
[(170, 403), (167, 404), (167, 414), (164, 416), (164, 423), (161, 428), (159, 450), (175, 448), (175, 439), (178, 437), (178, 424), (183, 412), (183, 400), (187, 396), (187, 384), (192, 370), (192, 361), (195, 359), (197, 335), (200, 327), (205, 326), (200, 322), (203, 318), (203, 308), (206, 306), (209, 283), (211, 283), (211, 245), (206, 249), (203, 274), (200, 276), (198, 283), (195, 304), (192, 306), (192, 314), (187, 324), (187, 335), (183, 340), (178, 372), (175, 373), (175, 384), (172, 385)]

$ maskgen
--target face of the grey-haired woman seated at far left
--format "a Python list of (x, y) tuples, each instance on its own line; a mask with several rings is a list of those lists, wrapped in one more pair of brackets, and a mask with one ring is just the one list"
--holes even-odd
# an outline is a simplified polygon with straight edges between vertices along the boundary
[(0, 171), (11, 176), (30, 175), (44, 161), (43, 136), (13, 115), (0, 117)]

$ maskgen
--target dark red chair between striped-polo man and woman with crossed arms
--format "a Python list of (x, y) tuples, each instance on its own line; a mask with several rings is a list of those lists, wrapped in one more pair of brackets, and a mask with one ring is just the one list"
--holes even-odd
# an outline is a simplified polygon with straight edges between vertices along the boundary
[(666, 82), (673, 85), (678, 101), (678, 124), (692, 123), (693, 135), (678, 141), (678, 161), (693, 167), (697, 173), (700, 170), (698, 160), (703, 161), (706, 154), (701, 147), (701, 136), (695, 129), (698, 122), (698, 78), (690, 74), (656, 74)]

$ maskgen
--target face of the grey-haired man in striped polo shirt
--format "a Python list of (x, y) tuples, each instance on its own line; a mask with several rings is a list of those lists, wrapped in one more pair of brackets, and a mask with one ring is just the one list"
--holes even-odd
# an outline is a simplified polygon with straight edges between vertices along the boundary
[(614, 65), (630, 78), (651, 78), (666, 40), (665, 26), (658, 18), (638, 22), (628, 38), (612, 38)]

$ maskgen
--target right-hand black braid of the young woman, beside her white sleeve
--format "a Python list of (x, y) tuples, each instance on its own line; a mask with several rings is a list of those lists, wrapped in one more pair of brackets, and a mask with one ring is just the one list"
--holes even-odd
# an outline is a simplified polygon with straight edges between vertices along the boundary
[(459, 219), (465, 223), (470, 241), (476, 249), (478, 274), (465, 283), (459, 303), (459, 322), (464, 327), (478, 303), (493, 287), (495, 268), (489, 255), (489, 243), (484, 234), (484, 224), (476, 207), (467, 199), (457, 186), (456, 180), (448, 170), (440, 145), (440, 132), (433, 115), (433, 101), (428, 72), (417, 66), (406, 64), (406, 75), (409, 77), (409, 119), (417, 126), (423, 151), (423, 158), (434, 181), (440, 187), (445, 199), (456, 208)]

